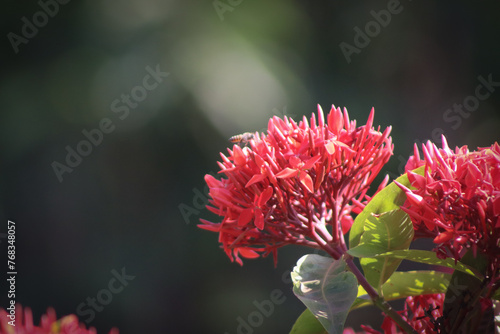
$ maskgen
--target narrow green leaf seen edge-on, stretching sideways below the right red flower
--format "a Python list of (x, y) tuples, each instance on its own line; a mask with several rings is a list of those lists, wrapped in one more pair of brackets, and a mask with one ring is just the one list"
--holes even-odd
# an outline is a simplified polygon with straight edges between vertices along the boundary
[[(370, 256), (370, 255), (365, 255), (365, 256)], [(377, 254), (375, 257), (377, 258), (390, 257), (390, 258), (409, 260), (413, 262), (425, 263), (430, 265), (443, 266), (451, 269), (456, 269), (466, 274), (475, 276), (476, 278), (481, 280), (484, 278), (483, 274), (481, 274), (477, 269), (473, 268), (472, 266), (466, 265), (460, 261), (457, 261), (457, 263), (455, 263), (455, 260), (451, 258), (440, 259), (437, 257), (436, 253), (431, 251), (418, 250), (418, 249), (395, 250), (383, 254)]]

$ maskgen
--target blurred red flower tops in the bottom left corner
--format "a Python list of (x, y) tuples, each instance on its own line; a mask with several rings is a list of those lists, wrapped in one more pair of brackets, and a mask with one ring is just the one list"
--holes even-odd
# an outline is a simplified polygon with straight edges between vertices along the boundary
[[(10, 322), (10, 323), (9, 323)], [(15, 324), (13, 326), (12, 324)], [(74, 314), (67, 315), (57, 320), (54, 309), (49, 308), (47, 314), (42, 315), (40, 325), (33, 324), (33, 314), (29, 308), (24, 311), (20, 305), (16, 305), (15, 322), (12, 322), (9, 313), (0, 309), (0, 333), (4, 334), (96, 334), (94, 328), (86, 329), (84, 324), (79, 323)], [(113, 328), (109, 334), (119, 334)]]

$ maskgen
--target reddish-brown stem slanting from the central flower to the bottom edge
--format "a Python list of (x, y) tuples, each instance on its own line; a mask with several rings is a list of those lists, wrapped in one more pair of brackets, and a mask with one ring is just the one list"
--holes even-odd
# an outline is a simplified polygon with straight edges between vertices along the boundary
[(399, 313), (394, 311), (391, 305), (389, 305), (389, 303), (387, 303), (384, 298), (378, 295), (377, 291), (375, 291), (370, 283), (368, 283), (365, 276), (363, 276), (363, 274), (359, 271), (358, 267), (356, 267), (356, 264), (352, 260), (352, 257), (348, 254), (345, 254), (344, 258), (349, 268), (351, 268), (352, 273), (358, 279), (358, 283), (365, 289), (366, 293), (368, 293), (368, 295), (372, 299), (373, 304), (381, 309), (389, 317), (391, 317), (391, 319), (394, 320), (394, 322), (396, 322), (399, 327), (401, 327), (401, 329), (403, 329), (406, 333), (417, 334), (415, 329), (411, 327), (410, 324), (407, 323), (401, 317), (401, 315), (399, 315)]

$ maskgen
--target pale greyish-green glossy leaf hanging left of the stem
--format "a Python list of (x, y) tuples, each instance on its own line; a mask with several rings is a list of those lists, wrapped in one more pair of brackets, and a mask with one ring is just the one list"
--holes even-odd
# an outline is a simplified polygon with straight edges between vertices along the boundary
[(293, 293), (330, 334), (342, 334), (356, 299), (358, 281), (345, 267), (342, 259), (308, 254), (299, 259), (291, 273)]

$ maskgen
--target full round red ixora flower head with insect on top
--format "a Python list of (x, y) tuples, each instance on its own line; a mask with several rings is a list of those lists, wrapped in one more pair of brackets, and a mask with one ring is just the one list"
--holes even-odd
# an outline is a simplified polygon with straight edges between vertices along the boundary
[[(255, 133), (243, 148), (221, 154), (220, 180), (205, 176), (211, 197), (207, 208), (222, 222), (201, 219), (199, 227), (219, 233), (231, 260), (272, 253), (300, 244), (345, 247), (339, 242), (352, 225), (366, 192), (392, 155), (391, 128), (356, 127), (347, 110), (332, 107), (326, 120), (318, 106), (296, 123), (286, 116), (269, 120), (267, 133)], [(383, 185), (382, 185), (383, 186)], [(342, 246), (339, 246), (342, 245)], [(333, 249), (333, 251), (332, 251)], [(337, 251), (340, 257), (341, 251)]]

